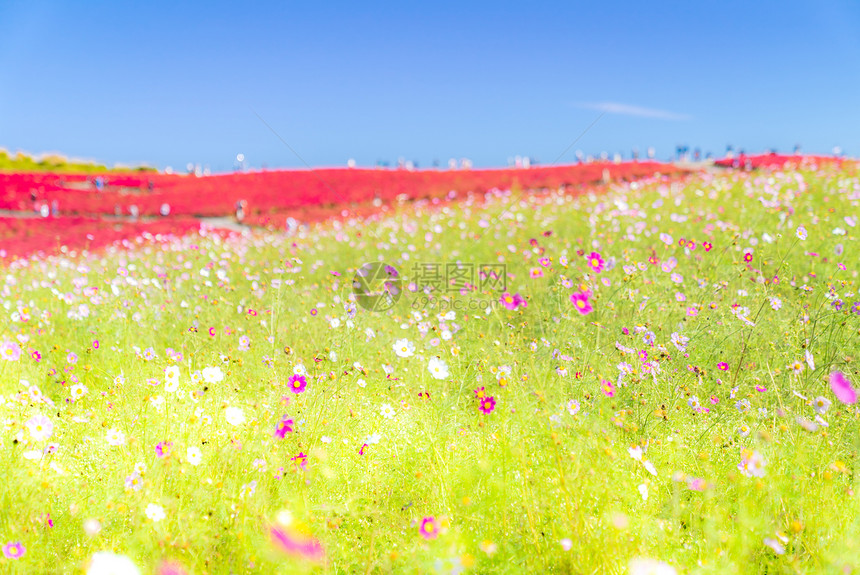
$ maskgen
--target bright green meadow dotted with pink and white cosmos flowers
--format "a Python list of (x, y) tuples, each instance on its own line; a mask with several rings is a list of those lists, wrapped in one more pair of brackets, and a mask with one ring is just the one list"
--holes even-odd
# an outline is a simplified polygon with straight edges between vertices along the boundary
[(7, 260), (0, 571), (853, 572), (858, 202), (846, 163)]

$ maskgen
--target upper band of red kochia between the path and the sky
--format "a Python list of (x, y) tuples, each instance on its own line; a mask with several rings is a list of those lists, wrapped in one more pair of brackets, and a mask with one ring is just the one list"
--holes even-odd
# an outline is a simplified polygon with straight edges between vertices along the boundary
[[(248, 203), (248, 214), (287, 213), (317, 206), (350, 207), (375, 199), (390, 202), (444, 197), (450, 191), (482, 193), (492, 188), (558, 188), (597, 182), (604, 171), (612, 180), (629, 180), (678, 172), (657, 162), (593, 163), (529, 169), (498, 170), (389, 170), (317, 169), (243, 172), (216, 176), (166, 174), (102, 174), (99, 192), (96, 176), (51, 173), (0, 174), (0, 209), (33, 211), (54, 201), (61, 214), (128, 214), (137, 206), (140, 215), (158, 215), (162, 204), (171, 215), (223, 216), (234, 213), (237, 201)], [(35, 196), (35, 200), (34, 200)]]

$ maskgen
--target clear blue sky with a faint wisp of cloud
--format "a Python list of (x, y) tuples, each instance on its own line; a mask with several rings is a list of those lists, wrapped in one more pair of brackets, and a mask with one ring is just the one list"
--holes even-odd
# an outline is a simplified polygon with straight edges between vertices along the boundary
[(858, 95), (847, 0), (0, 2), (0, 147), (109, 164), (857, 155)]

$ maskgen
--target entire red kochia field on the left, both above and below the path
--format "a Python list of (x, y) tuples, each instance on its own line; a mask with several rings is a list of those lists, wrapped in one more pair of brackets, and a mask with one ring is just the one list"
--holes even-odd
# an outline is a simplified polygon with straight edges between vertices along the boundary
[[(612, 181), (677, 174), (669, 164), (595, 163), (501, 170), (319, 169), (243, 172), (217, 176), (168, 174), (0, 173), (0, 258), (98, 248), (144, 233), (183, 234), (199, 229), (199, 217), (232, 216), (247, 203), (244, 223), (283, 228), (331, 216), (368, 216), (400, 200), (520, 188), (576, 193)], [(101, 178), (97, 189), (96, 178)], [(163, 204), (169, 215), (160, 215)], [(132, 220), (132, 206), (143, 219)], [(32, 217), (40, 208), (52, 214)], [(124, 216), (116, 218), (114, 216)], [(23, 217), (22, 217), (23, 216)]]

